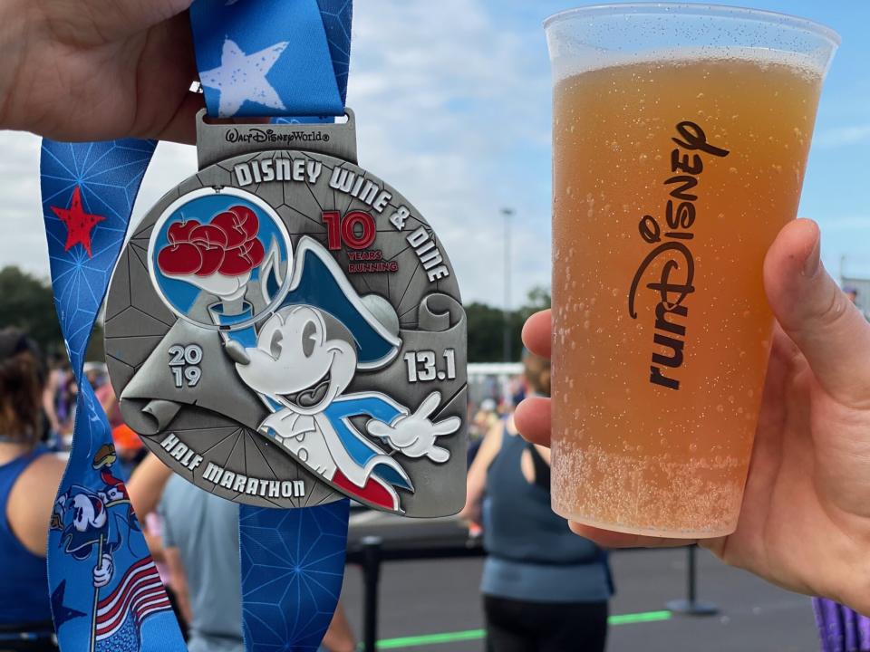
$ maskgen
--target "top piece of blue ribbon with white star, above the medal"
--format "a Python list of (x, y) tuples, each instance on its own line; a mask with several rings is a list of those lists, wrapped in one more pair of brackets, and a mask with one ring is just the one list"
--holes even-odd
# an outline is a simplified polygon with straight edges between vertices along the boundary
[(341, 115), (352, 5), (351, 0), (197, 0), (190, 24), (208, 114)]

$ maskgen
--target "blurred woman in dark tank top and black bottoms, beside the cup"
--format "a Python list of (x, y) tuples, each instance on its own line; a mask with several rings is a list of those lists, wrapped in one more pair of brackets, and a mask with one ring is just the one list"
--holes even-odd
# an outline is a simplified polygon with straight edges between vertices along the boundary
[[(529, 389), (548, 396), (550, 365), (523, 357)], [(488, 652), (603, 652), (613, 582), (607, 556), (550, 509), (549, 451), (493, 427), (469, 469), (462, 516), (482, 522)]]

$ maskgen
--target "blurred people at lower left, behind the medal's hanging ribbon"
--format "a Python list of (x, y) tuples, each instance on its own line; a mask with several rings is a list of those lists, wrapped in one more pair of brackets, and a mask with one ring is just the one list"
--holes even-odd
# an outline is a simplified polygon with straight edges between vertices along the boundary
[[(84, 375), (111, 427), (114, 463), (130, 478), (160, 579), (190, 652), (243, 652), (238, 505), (173, 475), (121, 417), (106, 365)], [(55, 650), (45, 550), (54, 497), (72, 445), (80, 388), (61, 356), (45, 360), (23, 331), (0, 330), (0, 652)], [(111, 573), (95, 562), (94, 578)], [(322, 649), (351, 652), (339, 605)]]

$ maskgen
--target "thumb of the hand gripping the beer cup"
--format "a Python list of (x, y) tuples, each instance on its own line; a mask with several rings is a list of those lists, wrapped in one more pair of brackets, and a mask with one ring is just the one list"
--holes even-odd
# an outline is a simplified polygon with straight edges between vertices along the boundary
[(870, 324), (825, 271), (812, 220), (786, 225), (764, 261), (764, 286), (780, 326), (828, 394), (870, 399)]

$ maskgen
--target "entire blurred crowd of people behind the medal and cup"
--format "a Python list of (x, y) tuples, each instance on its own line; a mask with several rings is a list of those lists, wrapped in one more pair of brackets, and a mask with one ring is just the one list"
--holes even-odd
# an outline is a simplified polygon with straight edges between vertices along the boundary
[[(613, 592), (606, 554), (550, 510), (549, 451), (528, 444), (513, 423), (523, 398), (549, 393), (549, 362), (527, 354), (522, 365), (484, 367), (469, 369), (469, 498), (461, 517), (488, 554), (481, 579), (488, 652), (604, 650)], [(147, 453), (123, 422), (105, 364), (88, 362), (84, 374), (107, 415), (116, 462), (130, 478), (131, 503), (189, 650), (241, 652), (237, 504)], [(0, 331), (0, 572), (8, 580), (0, 587), (0, 652), (55, 649), (45, 539), (79, 390), (62, 357), (45, 361), (26, 333)], [(96, 563), (95, 577), (104, 572)], [(356, 648), (341, 604), (323, 648)]]

